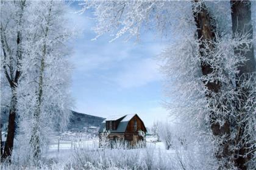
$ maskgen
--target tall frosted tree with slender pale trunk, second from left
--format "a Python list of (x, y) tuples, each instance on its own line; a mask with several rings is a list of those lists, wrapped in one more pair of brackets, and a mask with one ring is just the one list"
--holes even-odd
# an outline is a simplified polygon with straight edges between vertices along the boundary
[(26, 51), (25, 77), (18, 88), (19, 139), (20, 144), (30, 146), (36, 161), (47, 149), (51, 132), (63, 131), (68, 125), (72, 100), (66, 44), (74, 33), (69, 29), (65, 2), (34, 1), (29, 10), (34, 44)]

